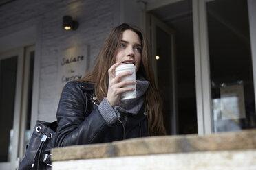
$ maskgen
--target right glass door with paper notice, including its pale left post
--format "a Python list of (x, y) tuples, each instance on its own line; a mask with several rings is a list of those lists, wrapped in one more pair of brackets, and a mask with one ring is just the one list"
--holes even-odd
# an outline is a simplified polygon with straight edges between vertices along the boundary
[(199, 134), (256, 127), (250, 13), (244, 0), (193, 0)]

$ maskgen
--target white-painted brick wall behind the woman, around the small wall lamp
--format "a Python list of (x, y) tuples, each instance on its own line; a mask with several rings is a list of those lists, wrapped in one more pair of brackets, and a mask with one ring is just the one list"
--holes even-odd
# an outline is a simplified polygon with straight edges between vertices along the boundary
[[(103, 40), (114, 27), (111, 10), (114, 1), (74, 1), (43, 14), (41, 34), (41, 70), (39, 90), (39, 117), (55, 119), (61, 88), (58, 82), (58, 57), (63, 49), (74, 45), (89, 46), (89, 64), (92, 64)], [(79, 22), (76, 31), (61, 29), (62, 16), (70, 15)]]

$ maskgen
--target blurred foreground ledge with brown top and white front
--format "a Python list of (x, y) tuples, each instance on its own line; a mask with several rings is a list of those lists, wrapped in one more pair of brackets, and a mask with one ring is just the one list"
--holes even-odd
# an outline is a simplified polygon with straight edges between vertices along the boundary
[(52, 150), (52, 169), (256, 169), (256, 130), (155, 136)]

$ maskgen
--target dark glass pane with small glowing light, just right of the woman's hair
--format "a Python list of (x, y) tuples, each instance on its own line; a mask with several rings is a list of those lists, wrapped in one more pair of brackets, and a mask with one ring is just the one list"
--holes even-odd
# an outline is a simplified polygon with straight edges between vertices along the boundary
[(149, 34), (151, 35), (153, 71), (164, 104), (164, 125), (168, 134), (176, 134), (178, 114), (175, 90), (175, 32), (151, 14), (148, 15), (148, 20), (151, 28)]

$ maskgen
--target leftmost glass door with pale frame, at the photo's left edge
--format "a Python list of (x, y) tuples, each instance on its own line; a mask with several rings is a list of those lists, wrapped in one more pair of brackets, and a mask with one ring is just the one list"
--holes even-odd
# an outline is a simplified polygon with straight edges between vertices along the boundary
[(0, 56), (0, 167), (15, 169), (17, 166), (19, 121), (21, 110), (21, 86), (23, 73), (23, 49)]

